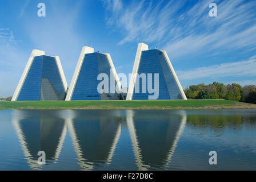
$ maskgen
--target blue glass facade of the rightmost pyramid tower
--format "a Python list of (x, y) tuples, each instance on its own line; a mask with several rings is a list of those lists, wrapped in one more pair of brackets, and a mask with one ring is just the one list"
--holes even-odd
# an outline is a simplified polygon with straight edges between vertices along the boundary
[[(142, 51), (141, 60), (139, 62), (138, 75), (141, 73), (152, 73), (152, 88), (154, 88), (154, 74), (159, 74), (159, 97), (157, 100), (175, 100), (182, 99), (178, 86), (174, 80), (173, 74), (169, 69), (167, 60), (163, 56), (163, 53), (158, 49), (151, 49), (148, 51)], [(137, 82), (139, 81), (139, 83)], [(135, 93), (135, 87), (133, 90), (133, 100), (149, 100), (150, 94), (147, 90), (147, 82), (144, 89), (146, 93), (142, 93), (142, 79), (140, 78), (135, 82), (135, 86), (139, 86), (139, 93)]]

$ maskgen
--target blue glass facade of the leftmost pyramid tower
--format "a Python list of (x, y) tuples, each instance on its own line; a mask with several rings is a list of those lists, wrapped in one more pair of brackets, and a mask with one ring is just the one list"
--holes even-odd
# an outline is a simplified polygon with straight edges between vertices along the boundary
[(34, 57), (17, 101), (64, 100), (65, 97), (65, 88), (55, 58)]

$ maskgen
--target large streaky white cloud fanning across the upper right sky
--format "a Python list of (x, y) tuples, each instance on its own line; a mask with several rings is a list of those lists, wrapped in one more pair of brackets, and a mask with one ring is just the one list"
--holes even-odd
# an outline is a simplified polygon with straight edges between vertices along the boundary
[(125, 35), (119, 44), (143, 41), (161, 46), (173, 58), (200, 54), (202, 51), (230, 51), (256, 46), (255, 1), (223, 0), (218, 17), (210, 17), (211, 0), (124, 2), (103, 1), (107, 24)]

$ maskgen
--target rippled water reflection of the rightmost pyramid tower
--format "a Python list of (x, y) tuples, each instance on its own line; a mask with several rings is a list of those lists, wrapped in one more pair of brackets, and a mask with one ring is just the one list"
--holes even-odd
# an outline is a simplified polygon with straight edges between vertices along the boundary
[(127, 125), (139, 170), (167, 168), (185, 127), (186, 115), (181, 113), (170, 117), (161, 111), (158, 115), (151, 115), (148, 111), (140, 115), (137, 111), (127, 111)]

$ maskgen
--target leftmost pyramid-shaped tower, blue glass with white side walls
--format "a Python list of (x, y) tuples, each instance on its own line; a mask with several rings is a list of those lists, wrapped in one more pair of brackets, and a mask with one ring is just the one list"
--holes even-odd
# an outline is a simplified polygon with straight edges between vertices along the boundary
[(65, 100), (67, 82), (58, 56), (34, 49), (11, 101)]

